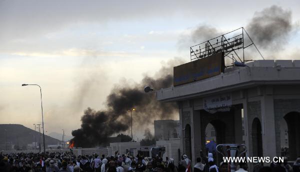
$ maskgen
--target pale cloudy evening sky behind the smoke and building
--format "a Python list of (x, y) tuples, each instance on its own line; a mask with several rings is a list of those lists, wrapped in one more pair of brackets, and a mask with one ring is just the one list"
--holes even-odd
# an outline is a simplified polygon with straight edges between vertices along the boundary
[(189, 61), (189, 46), (204, 41), (190, 37), (199, 26), (247, 30), (272, 5), (291, 12), (293, 29), (276, 53), (260, 50), (300, 59), (299, 0), (0, 0), (0, 123), (41, 123), (39, 88), (21, 86), (39, 84), (46, 134), (71, 135), (83, 110), (105, 108), (115, 86)]

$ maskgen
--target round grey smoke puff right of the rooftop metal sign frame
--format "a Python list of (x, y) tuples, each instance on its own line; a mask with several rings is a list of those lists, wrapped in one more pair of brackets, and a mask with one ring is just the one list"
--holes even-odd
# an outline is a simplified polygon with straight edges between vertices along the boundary
[(254, 43), (259, 47), (272, 50), (282, 48), (281, 46), (290, 37), (292, 29), (291, 11), (276, 5), (255, 12), (246, 26)]

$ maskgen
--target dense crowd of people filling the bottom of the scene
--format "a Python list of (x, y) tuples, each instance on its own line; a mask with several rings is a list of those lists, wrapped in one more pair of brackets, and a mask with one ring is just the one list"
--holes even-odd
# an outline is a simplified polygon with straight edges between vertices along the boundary
[[(46, 153), (0, 153), (0, 172), (228, 172), (230, 165), (225, 162), (215, 164), (211, 153), (202, 158), (197, 157), (194, 166), (186, 154), (181, 156), (178, 164), (173, 158), (162, 159), (155, 157), (143, 157), (118, 154), (105, 156), (104, 154), (90, 154), (75, 156), (69, 152), (46, 152)], [(239, 163), (237, 172), (247, 171), (247, 163)], [(263, 166), (262, 163), (255, 164), (253, 172), (300, 172), (300, 157), (293, 165), (285, 160), (283, 163), (271, 163)]]

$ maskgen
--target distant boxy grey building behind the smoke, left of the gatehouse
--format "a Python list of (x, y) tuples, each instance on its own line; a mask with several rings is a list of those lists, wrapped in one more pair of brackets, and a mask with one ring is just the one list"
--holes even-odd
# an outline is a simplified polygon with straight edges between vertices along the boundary
[(154, 120), (155, 140), (169, 140), (180, 137), (179, 120)]

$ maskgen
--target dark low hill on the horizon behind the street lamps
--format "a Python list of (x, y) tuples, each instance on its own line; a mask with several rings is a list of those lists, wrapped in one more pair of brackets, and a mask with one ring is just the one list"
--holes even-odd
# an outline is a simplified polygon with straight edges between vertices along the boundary
[[(5, 131), (6, 129), (6, 131)], [(42, 128), (41, 128), (42, 129)], [(7, 133), (7, 138), (6, 138)], [(5, 144), (5, 141), (12, 142), (12, 144), (18, 145), (19, 147), (31, 144), (34, 142), (34, 137), (36, 135), (36, 141), (39, 140), (39, 132), (27, 128), (21, 124), (0, 124), (0, 144)], [(40, 134), (40, 142), (42, 143), (42, 131)], [(61, 142), (60, 140), (45, 135), (45, 144), (57, 144)]]

